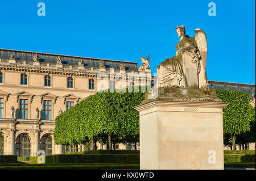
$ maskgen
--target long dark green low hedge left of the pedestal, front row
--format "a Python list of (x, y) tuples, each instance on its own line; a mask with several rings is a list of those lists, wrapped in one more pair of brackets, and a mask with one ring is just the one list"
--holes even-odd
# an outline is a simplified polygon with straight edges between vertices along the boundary
[(46, 163), (126, 163), (138, 164), (138, 154), (55, 154), (46, 155)]

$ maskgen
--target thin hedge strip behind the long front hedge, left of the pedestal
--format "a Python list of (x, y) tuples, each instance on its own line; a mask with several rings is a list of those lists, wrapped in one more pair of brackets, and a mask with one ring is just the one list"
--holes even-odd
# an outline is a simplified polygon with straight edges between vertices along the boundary
[(139, 154), (139, 150), (89, 150), (65, 154)]

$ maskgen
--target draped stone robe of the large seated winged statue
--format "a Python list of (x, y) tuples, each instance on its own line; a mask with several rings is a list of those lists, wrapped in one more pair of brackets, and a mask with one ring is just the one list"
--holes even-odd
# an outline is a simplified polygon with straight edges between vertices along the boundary
[(156, 68), (159, 87), (198, 87), (201, 57), (195, 39), (183, 37), (175, 48), (176, 56)]

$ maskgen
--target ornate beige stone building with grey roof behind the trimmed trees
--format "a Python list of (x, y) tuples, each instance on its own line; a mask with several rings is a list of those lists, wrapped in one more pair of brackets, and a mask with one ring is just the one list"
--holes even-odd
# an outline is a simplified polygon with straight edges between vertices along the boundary
[[(61, 112), (101, 89), (151, 85), (151, 80), (151, 71), (139, 70), (137, 62), (0, 49), (0, 154), (63, 153), (64, 146), (53, 139)], [(255, 85), (208, 83), (212, 89), (246, 91), (255, 105)]]

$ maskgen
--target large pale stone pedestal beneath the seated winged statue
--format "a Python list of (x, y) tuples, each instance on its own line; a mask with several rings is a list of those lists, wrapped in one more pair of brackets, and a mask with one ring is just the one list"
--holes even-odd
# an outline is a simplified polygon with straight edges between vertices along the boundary
[(224, 169), (222, 108), (213, 90), (158, 89), (137, 107), (141, 169)]

